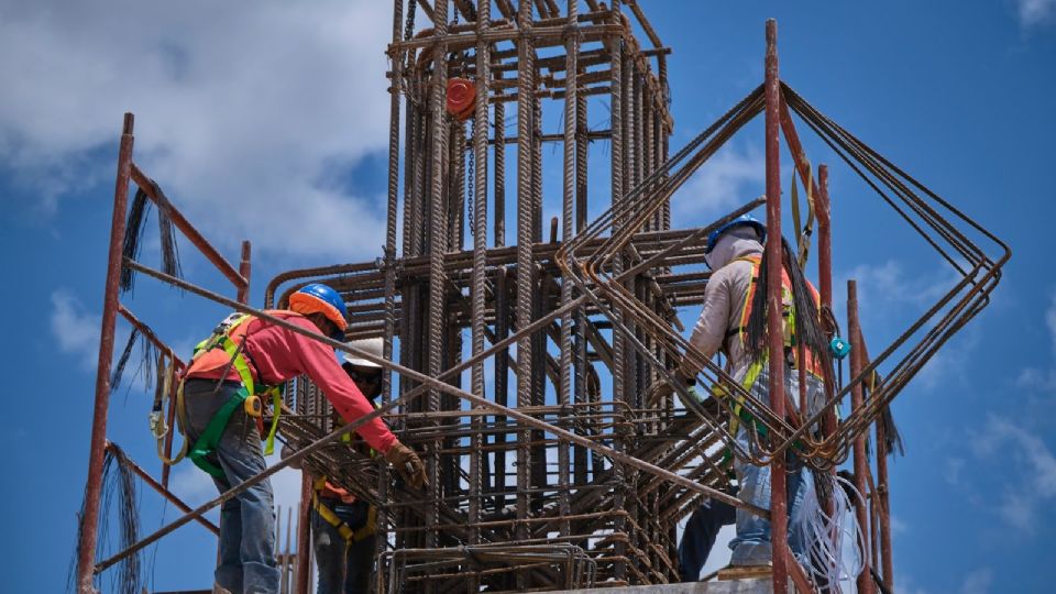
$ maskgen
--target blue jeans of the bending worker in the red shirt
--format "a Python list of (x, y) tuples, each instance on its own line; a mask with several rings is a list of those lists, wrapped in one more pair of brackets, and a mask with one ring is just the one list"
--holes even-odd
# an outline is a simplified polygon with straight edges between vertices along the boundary
[[(184, 387), (187, 439), (198, 439), (216, 411), (231, 399), (239, 384), (215, 380), (188, 380)], [(267, 468), (261, 451), (256, 421), (242, 407), (234, 410), (217, 444), (211, 462), (223, 470), (213, 479), (223, 493)], [(275, 506), (272, 483), (261, 481), (220, 507), (220, 564), (217, 584), (232, 594), (277, 594), (279, 571), (275, 566)]]

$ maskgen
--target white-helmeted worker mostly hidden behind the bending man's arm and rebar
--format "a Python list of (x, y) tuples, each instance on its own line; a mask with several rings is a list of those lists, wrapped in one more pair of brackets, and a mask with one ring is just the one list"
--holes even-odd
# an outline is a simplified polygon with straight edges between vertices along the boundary
[[(380, 338), (354, 340), (350, 346), (382, 356)], [(382, 393), (382, 366), (344, 353), (344, 371), (373, 400)], [(377, 510), (348, 491), (316, 477), (311, 499), (311, 541), (319, 573), (318, 594), (366, 594), (374, 570)]]

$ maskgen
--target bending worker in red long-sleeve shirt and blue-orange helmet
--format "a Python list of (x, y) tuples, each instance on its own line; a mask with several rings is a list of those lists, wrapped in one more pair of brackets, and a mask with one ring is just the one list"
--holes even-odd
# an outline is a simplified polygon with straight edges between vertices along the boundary
[[(268, 314), (334, 340), (344, 338), (344, 301), (327, 285), (307, 285), (290, 296), (288, 310)], [(322, 388), (345, 421), (373, 411), (338, 364), (333, 349), (267, 320), (229, 316), (195, 349), (180, 386), (186, 438), (193, 444), (187, 455), (212, 475), (221, 493), (265, 470), (253, 418), (260, 417), (261, 396), (277, 394), (275, 386), (302, 374)], [(408, 484), (420, 487), (426, 481), (421, 460), (397, 441), (380, 418), (356, 432), (382, 452)], [(224, 502), (217, 585), (232, 594), (276, 594), (279, 572), (274, 535), (270, 481), (260, 481)]]

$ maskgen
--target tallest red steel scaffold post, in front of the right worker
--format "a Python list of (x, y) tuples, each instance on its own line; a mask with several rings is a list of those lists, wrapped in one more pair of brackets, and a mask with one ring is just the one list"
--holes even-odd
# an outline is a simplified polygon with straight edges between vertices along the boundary
[[(784, 418), (784, 332), (781, 329), (781, 118), (778, 78), (778, 22), (767, 21), (766, 57), (766, 147), (767, 147), (767, 337), (770, 364), (770, 407)], [(787, 552), (789, 542), (788, 502), (785, 501), (784, 459), (776, 455), (770, 471), (770, 534), (773, 560), (773, 592), (789, 590)]]

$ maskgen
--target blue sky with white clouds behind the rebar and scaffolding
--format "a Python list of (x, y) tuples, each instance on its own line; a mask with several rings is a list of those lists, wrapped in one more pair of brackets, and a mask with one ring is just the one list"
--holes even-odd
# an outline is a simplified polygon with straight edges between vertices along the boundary
[[(672, 147), (761, 81), (763, 21), (776, 16), (785, 81), (1011, 244), (993, 302), (894, 403), (908, 449), (892, 465), (895, 573), (901, 592), (1048, 591), (1056, 267), (1042, 254), (1056, 215), (1056, 2), (642, 4), (674, 50)], [(205, 6), (0, 0), (0, 270), (10, 279), (0, 510), (13, 536), (0, 554), (14, 569), (11, 592), (61, 591), (73, 553), (124, 111), (138, 118), (136, 161), (207, 235), (232, 260), (242, 238), (254, 242), (254, 304), (280, 271), (380, 254), (388, 2)], [(604, 121), (593, 113), (592, 125)], [(877, 351), (949, 273), (806, 143), (833, 168), (835, 274), (858, 279)], [(787, 165), (785, 186), (788, 175)], [(761, 184), (761, 132), (749, 127), (680, 193), (679, 224)], [(183, 253), (188, 277), (232, 294)], [(156, 248), (143, 260), (156, 263)], [(145, 278), (129, 305), (182, 352), (224, 314)], [(157, 472), (147, 409), (139, 388), (122, 388), (109, 435)], [(202, 476), (183, 466), (174, 484), (201, 502), (211, 494)], [(286, 505), (294, 490), (294, 477), (278, 481)], [(150, 493), (142, 502), (144, 531), (163, 512), (174, 517)], [(205, 587), (213, 554), (204, 530), (182, 528), (156, 550), (154, 585)]]

